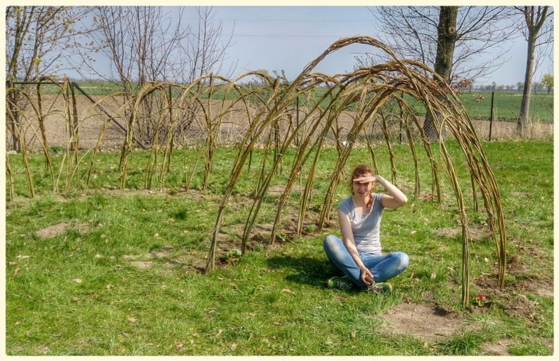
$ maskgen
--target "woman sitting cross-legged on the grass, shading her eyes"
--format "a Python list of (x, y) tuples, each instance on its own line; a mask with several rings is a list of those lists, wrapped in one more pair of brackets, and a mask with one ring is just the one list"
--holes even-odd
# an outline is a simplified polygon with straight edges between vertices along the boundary
[[(389, 194), (373, 193), (378, 182)], [(394, 184), (375, 175), (366, 165), (358, 165), (352, 174), (353, 196), (338, 206), (342, 238), (329, 235), (324, 250), (331, 263), (345, 274), (328, 280), (331, 288), (359, 286), (375, 293), (392, 291), (390, 283), (383, 282), (402, 273), (408, 267), (404, 252), (381, 254), (380, 225), (384, 208), (398, 208), (408, 198)]]

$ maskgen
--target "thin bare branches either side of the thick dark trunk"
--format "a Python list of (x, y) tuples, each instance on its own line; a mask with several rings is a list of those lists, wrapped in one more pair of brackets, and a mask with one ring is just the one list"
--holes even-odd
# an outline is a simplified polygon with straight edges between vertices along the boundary
[[(440, 7), (394, 6), (369, 10), (382, 25), (381, 40), (397, 55), (434, 67)], [(508, 60), (503, 55), (510, 49), (507, 44), (516, 34), (511, 26), (512, 16), (509, 7), (458, 7), (451, 82), (491, 74)], [(480, 60), (490, 53), (496, 56)]]

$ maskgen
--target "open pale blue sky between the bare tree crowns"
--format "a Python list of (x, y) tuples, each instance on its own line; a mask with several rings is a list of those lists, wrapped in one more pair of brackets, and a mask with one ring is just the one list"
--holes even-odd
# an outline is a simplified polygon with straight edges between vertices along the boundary
[[(367, 35), (378, 37), (375, 18), (367, 7), (214, 7), (216, 20), (224, 23), (224, 33), (231, 34), (233, 46), (229, 61), (238, 60), (236, 73), (247, 70), (284, 69), (288, 79), (295, 78), (307, 63), (316, 58), (340, 37)], [(489, 78), (476, 84), (515, 84), (524, 80), (527, 42), (520, 36), (506, 54), (508, 61)], [(353, 69), (354, 54), (368, 48), (354, 45), (331, 54), (316, 71), (326, 74)], [(510, 59), (509, 59), (510, 58)], [(534, 80), (553, 73), (551, 59), (538, 68)]]

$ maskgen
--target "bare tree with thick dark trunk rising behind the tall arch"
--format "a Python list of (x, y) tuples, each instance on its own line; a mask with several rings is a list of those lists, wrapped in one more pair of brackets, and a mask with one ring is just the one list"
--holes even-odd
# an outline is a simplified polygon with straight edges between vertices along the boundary
[[(511, 16), (506, 7), (396, 6), (380, 7), (372, 13), (382, 25), (383, 40), (397, 55), (432, 66), (448, 84), (498, 69), (506, 61), (503, 44), (514, 32), (505, 21)], [(496, 49), (494, 59), (479, 60)], [(425, 117), (424, 130), (430, 140), (437, 139), (429, 116)]]

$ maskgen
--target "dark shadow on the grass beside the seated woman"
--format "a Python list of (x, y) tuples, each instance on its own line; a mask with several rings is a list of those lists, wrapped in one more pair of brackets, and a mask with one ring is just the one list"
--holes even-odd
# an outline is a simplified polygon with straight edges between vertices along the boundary
[(328, 278), (340, 276), (337, 269), (324, 259), (310, 257), (291, 257), (281, 256), (267, 259), (268, 267), (272, 269), (290, 269), (294, 274), (290, 274), (288, 281), (309, 284), (310, 286), (325, 288)]

